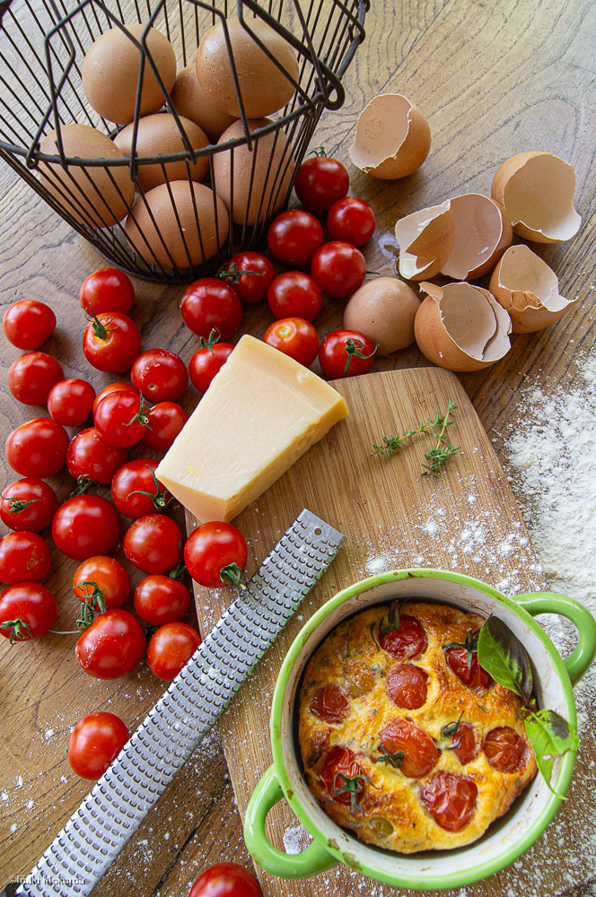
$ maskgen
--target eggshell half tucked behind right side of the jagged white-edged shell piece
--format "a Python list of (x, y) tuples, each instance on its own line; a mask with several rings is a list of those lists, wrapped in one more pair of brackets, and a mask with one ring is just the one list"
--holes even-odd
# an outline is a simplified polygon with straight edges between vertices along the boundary
[(453, 280), (475, 280), (491, 271), (511, 246), (513, 228), (498, 203), (489, 196), (465, 193), (451, 199), (455, 243), (441, 273)]

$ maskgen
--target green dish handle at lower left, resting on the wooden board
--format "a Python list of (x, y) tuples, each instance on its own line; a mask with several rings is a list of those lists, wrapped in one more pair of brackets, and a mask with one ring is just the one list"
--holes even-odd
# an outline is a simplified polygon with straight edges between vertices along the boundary
[(269, 841), (265, 831), (267, 813), (282, 797), (284, 792), (279, 784), (276, 768), (270, 766), (253, 791), (244, 816), (244, 840), (250, 856), (259, 866), (279, 878), (308, 878), (309, 875), (318, 875), (336, 866), (337, 859), (317, 841), (313, 840), (302, 853), (295, 856), (276, 849)]

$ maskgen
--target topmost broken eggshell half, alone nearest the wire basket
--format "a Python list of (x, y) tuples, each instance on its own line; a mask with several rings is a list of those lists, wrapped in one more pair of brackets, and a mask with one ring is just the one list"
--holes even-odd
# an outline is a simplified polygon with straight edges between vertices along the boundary
[(356, 123), (350, 159), (373, 178), (405, 178), (420, 168), (431, 148), (423, 113), (401, 93), (380, 93)]

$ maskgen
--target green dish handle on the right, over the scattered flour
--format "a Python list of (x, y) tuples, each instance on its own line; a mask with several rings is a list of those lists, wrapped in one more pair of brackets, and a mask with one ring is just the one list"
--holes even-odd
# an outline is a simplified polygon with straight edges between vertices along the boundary
[(574, 685), (586, 672), (596, 655), (596, 620), (587, 608), (573, 598), (557, 592), (529, 592), (513, 597), (531, 616), (559, 614), (571, 620), (577, 628), (577, 648), (563, 663), (571, 684)]

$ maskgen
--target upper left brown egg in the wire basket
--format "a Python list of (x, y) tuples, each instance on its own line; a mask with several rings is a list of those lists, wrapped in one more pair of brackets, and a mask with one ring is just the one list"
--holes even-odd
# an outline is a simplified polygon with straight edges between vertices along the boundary
[[(146, 25), (127, 24), (126, 30), (140, 42)], [(154, 28), (147, 49), (170, 93), (176, 80), (176, 54), (170, 41)], [(93, 109), (108, 121), (127, 125), (135, 117), (136, 84), (141, 54), (125, 31), (116, 26), (92, 43), (83, 59), (83, 91)], [(161, 109), (165, 98), (148, 61), (145, 62), (139, 116)]]

